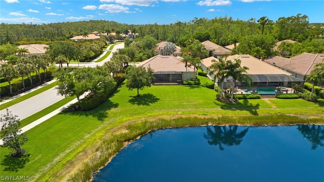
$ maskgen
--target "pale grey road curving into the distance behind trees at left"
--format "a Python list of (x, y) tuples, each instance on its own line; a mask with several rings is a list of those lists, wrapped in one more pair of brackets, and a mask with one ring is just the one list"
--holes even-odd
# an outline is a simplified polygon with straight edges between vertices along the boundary
[[(81, 66), (88, 66), (88, 67), (96, 67), (97, 65), (102, 66), (105, 62), (109, 61), (112, 57), (112, 53), (115, 52), (117, 49), (124, 48), (124, 43), (115, 44), (114, 48), (111, 50), (110, 55), (104, 59), (103, 61), (99, 63), (95, 63), (94, 61), (87, 64), (80, 63)], [(108, 51), (109, 47), (107, 48)], [(104, 52), (106, 53), (106, 51)], [(101, 55), (99, 58), (101, 58), (103, 55)], [(64, 66), (64, 65), (63, 65)], [(66, 65), (65, 65), (66, 66)], [(46, 90), (45, 92), (38, 94), (32, 98), (29, 98), (25, 101), (22, 101), (20, 103), (17, 103), (11, 107), (8, 107), (9, 111), (12, 112), (13, 115), (17, 115), (20, 120), (31, 116), (34, 113), (37, 113), (55, 103), (58, 101), (64, 99), (63, 96), (57, 95), (57, 90), (55, 87)], [(1, 106), (0, 106), (1, 107)], [(5, 114), (6, 109), (0, 110), (0, 114)], [(0, 128), (2, 126), (2, 123), (0, 123)]]

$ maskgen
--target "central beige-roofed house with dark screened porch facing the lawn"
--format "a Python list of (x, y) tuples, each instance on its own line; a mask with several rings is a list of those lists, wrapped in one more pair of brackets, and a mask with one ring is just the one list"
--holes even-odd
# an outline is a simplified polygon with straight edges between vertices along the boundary
[(193, 67), (186, 67), (181, 60), (181, 57), (157, 55), (137, 66), (151, 67), (154, 70), (153, 83), (181, 83), (185, 79), (194, 78), (196, 71)]

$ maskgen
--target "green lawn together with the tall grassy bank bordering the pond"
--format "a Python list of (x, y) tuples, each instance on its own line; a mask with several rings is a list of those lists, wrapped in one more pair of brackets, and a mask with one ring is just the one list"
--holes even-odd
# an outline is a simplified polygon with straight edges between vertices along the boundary
[(324, 124), (324, 101), (225, 103), (215, 100), (216, 92), (205, 85), (153, 85), (140, 94), (136, 97), (136, 90), (129, 91), (121, 84), (94, 110), (62, 112), (28, 130), (29, 140), (23, 148), (30, 155), (10, 158), (10, 151), (2, 148), (1, 174), (28, 175), (33, 181), (85, 181), (125, 142), (151, 129), (205, 124)]

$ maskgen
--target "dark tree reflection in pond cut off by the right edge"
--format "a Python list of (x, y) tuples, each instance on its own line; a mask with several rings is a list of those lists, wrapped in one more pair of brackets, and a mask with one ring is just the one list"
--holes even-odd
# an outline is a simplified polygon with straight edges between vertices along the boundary
[(324, 126), (298, 125), (297, 129), (311, 143), (311, 150), (315, 150), (318, 146), (324, 146)]

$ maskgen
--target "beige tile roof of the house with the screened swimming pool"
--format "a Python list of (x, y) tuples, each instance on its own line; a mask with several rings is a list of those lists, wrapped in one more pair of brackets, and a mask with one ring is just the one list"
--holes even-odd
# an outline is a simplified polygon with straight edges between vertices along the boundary
[[(225, 59), (225, 58), (224, 58)], [(285, 74), (285, 75), (291, 75), (291, 73), (288, 73), (284, 70), (281, 70), (273, 65), (270, 65), (264, 61), (261, 61), (251, 55), (233, 55), (228, 56), (226, 60), (234, 61), (235, 59), (241, 60), (241, 66), (246, 66), (249, 68), (247, 72), (249, 74), (253, 75), (271, 75), (271, 74)], [(206, 67), (209, 67), (213, 64), (212, 60), (218, 60), (214, 57), (209, 57), (201, 60), (201, 63), (204, 64)]]

